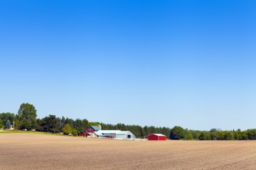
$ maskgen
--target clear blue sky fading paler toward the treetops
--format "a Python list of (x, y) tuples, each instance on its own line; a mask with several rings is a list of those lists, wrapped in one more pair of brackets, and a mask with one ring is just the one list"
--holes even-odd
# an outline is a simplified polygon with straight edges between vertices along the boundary
[(256, 1), (0, 1), (0, 112), (256, 128)]

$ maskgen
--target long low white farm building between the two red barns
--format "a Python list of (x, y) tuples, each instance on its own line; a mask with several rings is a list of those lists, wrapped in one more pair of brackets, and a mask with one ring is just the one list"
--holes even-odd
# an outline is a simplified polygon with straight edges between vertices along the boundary
[(116, 138), (116, 139), (135, 139), (135, 135), (130, 131), (121, 130), (98, 130), (93, 132), (92, 137)]

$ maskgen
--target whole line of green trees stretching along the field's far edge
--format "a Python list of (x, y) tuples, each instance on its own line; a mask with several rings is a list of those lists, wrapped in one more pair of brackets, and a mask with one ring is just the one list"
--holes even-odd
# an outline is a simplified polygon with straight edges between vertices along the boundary
[(102, 126), (102, 130), (129, 130), (137, 138), (144, 138), (149, 134), (164, 134), (172, 140), (255, 140), (256, 129), (241, 131), (238, 130), (218, 130), (216, 128), (210, 131), (188, 130), (181, 126), (155, 127), (139, 126), (125, 124), (104, 124), (102, 122), (89, 122), (86, 119), (71, 119), (55, 115), (49, 115), (42, 119), (37, 118), (36, 108), (30, 103), (22, 103), (18, 114), (2, 113), (0, 114), (0, 128), (11, 127), (14, 121), (16, 130), (36, 130), (39, 132), (52, 132), (64, 134), (81, 135), (92, 125)]

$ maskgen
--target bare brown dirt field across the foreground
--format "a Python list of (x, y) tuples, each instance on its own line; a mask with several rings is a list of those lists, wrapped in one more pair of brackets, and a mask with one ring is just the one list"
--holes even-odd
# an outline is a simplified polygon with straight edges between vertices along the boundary
[(256, 141), (0, 134), (0, 169), (256, 169)]

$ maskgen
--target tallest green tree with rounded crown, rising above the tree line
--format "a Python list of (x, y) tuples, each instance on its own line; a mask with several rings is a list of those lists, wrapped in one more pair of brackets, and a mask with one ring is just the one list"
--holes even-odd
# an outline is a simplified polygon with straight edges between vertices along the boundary
[(18, 120), (23, 124), (22, 128), (32, 129), (36, 127), (36, 108), (30, 103), (22, 103), (18, 110)]

